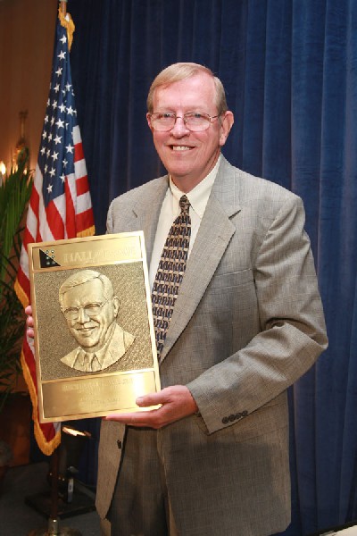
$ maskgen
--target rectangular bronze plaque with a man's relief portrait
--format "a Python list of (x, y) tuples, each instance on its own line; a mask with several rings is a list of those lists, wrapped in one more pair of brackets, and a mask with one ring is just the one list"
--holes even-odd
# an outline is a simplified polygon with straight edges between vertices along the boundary
[(142, 231), (29, 244), (41, 423), (145, 411), (160, 390)]

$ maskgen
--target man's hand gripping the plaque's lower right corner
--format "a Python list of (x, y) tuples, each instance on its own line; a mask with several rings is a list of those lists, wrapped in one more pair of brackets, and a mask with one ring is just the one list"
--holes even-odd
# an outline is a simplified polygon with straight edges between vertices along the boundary
[(106, 421), (117, 421), (130, 426), (154, 428), (158, 430), (170, 423), (175, 423), (183, 417), (193, 415), (198, 411), (195, 399), (184, 385), (172, 385), (158, 393), (151, 393), (136, 400), (137, 406), (162, 406), (148, 411), (137, 411), (127, 414), (112, 414), (105, 417)]

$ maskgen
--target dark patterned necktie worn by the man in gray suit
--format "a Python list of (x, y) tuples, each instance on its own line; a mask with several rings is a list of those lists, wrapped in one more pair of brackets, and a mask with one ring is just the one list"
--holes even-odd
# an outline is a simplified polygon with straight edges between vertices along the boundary
[(186, 196), (180, 198), (179, 206), (181, 212), (172, 223), (163, 247), (152, 292), (155, 339), (159, 360), (173, 306), (179, 294), (179, 285), (186, 269), (191, 236), (191, 218), (188, 214), (190, 203)]

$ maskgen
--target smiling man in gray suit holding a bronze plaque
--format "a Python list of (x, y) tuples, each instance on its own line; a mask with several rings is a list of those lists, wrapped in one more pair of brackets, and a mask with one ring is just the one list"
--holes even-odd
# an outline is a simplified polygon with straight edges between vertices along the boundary
[(162, 390), (137, 398), (162, 406), (104, 419), (97, 510), (112, 536), (281, 532), (286, 388), (327, 347), (303, 204), (220, 155), (234, 119), (212, 71), (171, 65), (147, 106), (169, 175), (115, 199), (107, 229), (144, 230), (156, 308), (155, 274), (185, 194), (188, 260), (159, 338)]

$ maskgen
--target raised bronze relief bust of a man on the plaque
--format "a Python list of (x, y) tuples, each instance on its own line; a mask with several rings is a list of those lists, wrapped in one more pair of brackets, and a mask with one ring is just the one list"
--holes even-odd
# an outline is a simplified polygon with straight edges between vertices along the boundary
[(71, 335), (79, 344), (62, 357), (62, 363), (92, 373), (124, 356), (135, 338), (116, 323), (120, 301), (108, 277), (95, 270), (76, 272), (62, 283), (59, 299)]

